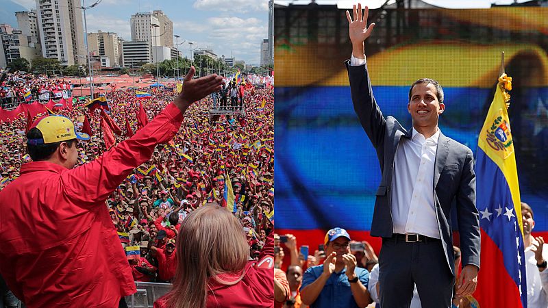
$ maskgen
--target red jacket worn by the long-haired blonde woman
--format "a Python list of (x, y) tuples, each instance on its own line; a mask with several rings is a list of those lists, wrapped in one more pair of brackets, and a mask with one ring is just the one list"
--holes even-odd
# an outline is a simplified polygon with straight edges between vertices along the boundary
[[(208, 308), (258, 308), (274, 305), (274, 233), (266, 239), (259, 261), (251, 260), (245, 266), (245, 275), (235, 285), (223, 285), (215, 279), (208, 283)], [(223, 274), (225, 281), (234, 281), (242, 273)], [(166, 296), (154, 303), (154, 308), (167, 308)]]

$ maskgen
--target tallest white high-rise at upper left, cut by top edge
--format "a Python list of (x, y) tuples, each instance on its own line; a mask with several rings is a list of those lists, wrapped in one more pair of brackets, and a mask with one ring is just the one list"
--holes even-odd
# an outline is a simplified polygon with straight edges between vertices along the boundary
[(36, 0), (44, 57), (63, 65), (86, 64), (84, 25), (79, 0)]

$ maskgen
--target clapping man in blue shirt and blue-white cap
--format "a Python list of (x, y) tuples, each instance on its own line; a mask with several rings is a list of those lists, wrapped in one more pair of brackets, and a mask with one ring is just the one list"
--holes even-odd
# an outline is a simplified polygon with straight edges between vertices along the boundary
[(369, 272), (357, 267), (350, 253), (350, 235), (334, 228), (325, 234), (327, 257), (323, 266), (308, 268), (303, 275), (301, 300), (312, 308), (366, 307), (371, 296), (366, 285)]

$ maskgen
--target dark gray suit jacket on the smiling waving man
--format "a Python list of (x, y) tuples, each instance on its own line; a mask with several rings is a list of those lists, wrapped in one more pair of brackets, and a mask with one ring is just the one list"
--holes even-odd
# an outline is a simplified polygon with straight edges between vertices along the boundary
[[(347, 61), (354, 110), (369, 140), (377, 151), (382, 179), (371, 223), (371, 235), (393, 235), (391, 193), (394, 158), (401, 138), (411, 138), (412, 130), (403, 128), (392, 116), (384, 118), (373, 97), (367, 66), (350, 66)], [(479, 268), (479, 214), (475, 207), (475, 173), (472, 151), (440, 133), (434, 166), (434, 204), (447, 266), (455, 274), (451, 203), (456, 201), (462, 265)]]

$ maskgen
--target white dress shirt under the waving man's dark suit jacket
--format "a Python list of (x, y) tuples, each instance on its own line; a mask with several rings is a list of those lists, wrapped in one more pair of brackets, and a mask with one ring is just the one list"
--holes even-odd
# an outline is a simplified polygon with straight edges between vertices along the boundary
[[(351, 66), (365, 59), (352, 55)], [(441, 238), (434, 208), (434, 166), (440, 129), (428, 139), (412, 129), (412, 138), (401, 138), (392, 180), (392, 222), (394, 233), (418, 233)]]

